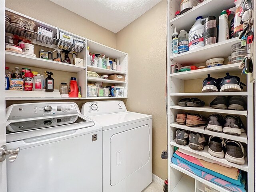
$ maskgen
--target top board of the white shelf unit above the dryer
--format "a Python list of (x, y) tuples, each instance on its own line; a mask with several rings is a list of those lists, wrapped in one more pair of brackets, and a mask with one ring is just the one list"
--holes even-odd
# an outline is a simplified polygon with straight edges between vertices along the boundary
[(112, 59), (116, 59), (118, 57), (127, 55), (127, 53), (125, 52), (116, 50), (114, 48), (108, 47), (90, 39), (87, 39), (87, 46), (90, 47), (90, 53), (106, 55), (107, 58), (109, 57)]

